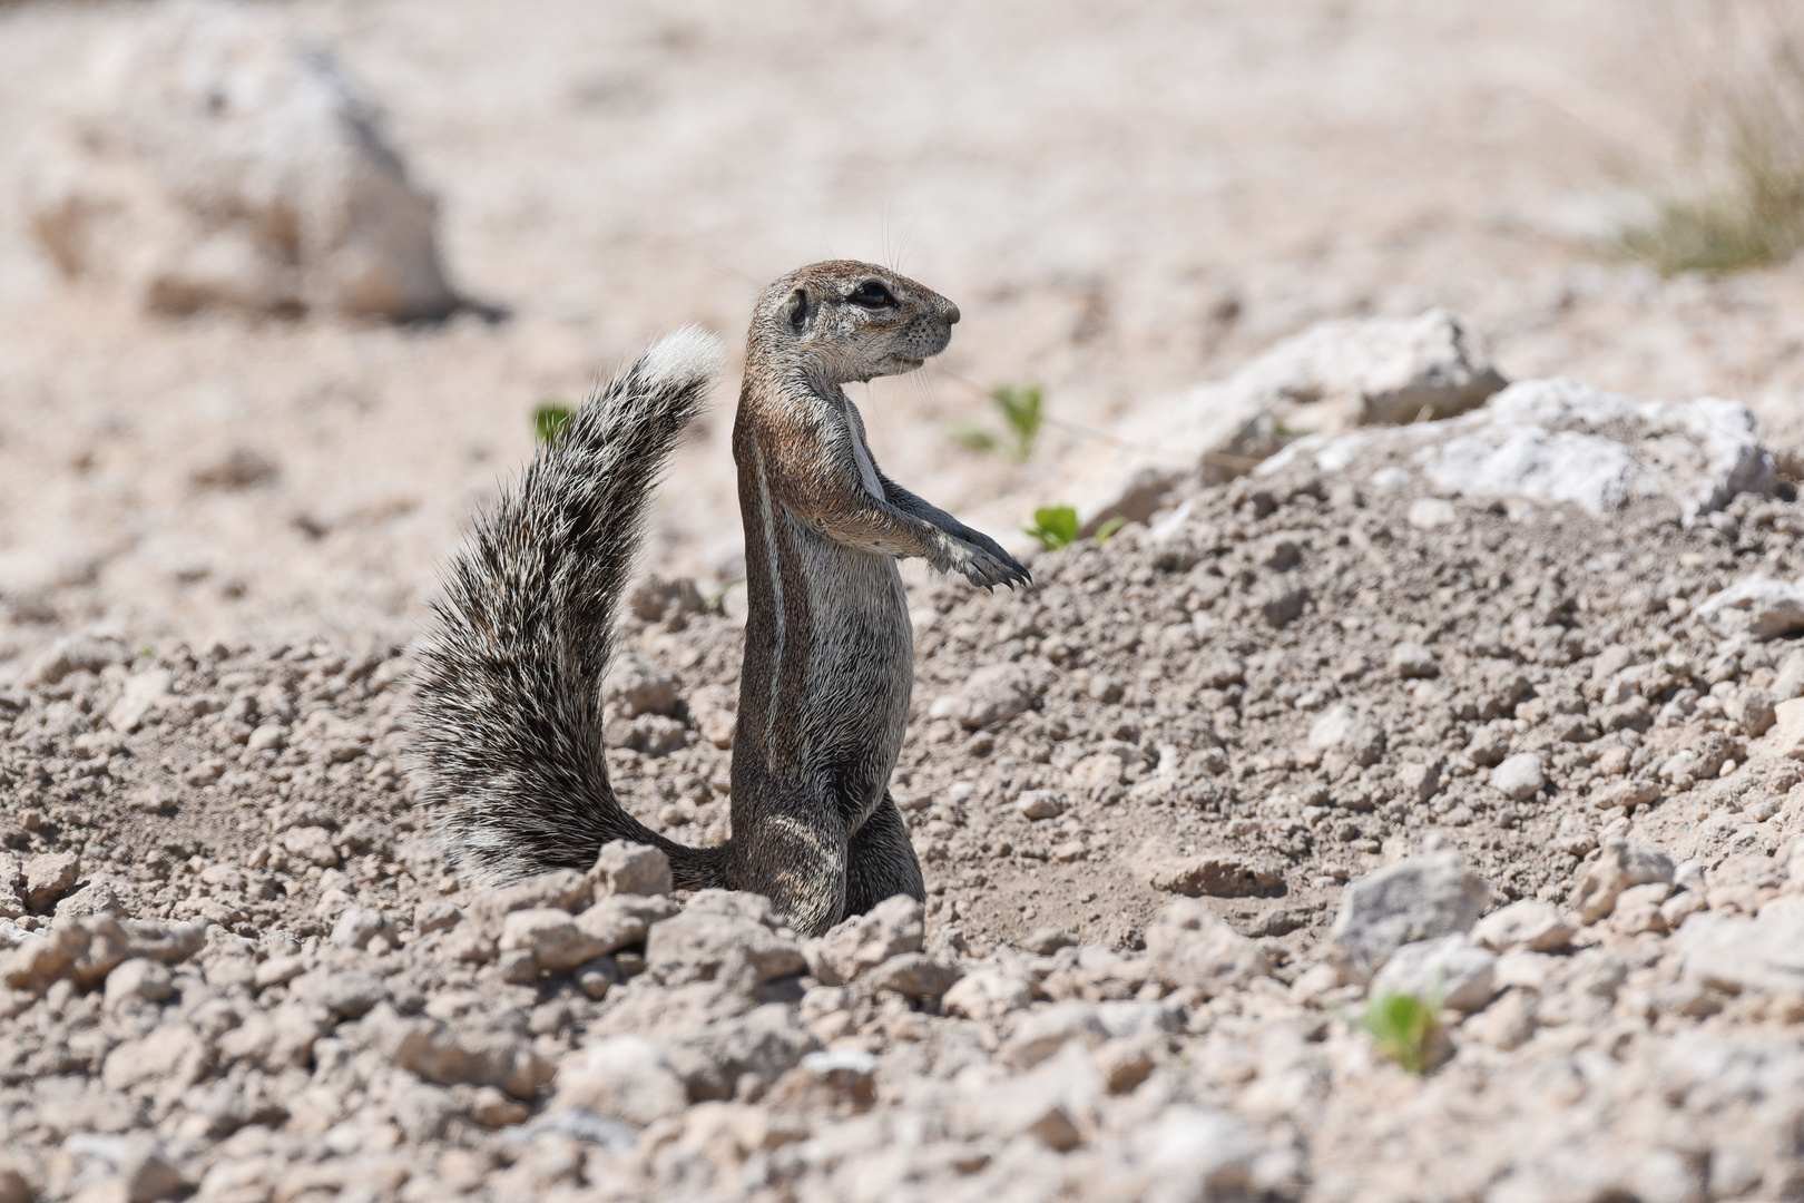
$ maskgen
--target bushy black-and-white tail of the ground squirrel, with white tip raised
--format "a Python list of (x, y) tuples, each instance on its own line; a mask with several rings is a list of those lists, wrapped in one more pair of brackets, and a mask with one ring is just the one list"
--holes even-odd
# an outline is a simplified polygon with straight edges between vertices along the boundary
[(534, 456), (456, 557), (415, 705), (420, 801), (460, 864), (505, 882), (655, 844), (678, 886), (718, 886), (723, 849), (684, 848), (608, 783), (601, 680), (651, 489), (720, 372), (720, 339), (649, 346)]

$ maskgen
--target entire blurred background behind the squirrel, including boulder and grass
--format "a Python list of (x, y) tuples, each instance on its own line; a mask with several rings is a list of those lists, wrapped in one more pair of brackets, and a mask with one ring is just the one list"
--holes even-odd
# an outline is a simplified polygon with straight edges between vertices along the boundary
[(0, 685), (69, 629), (410, 640), (536, 415), (686, 321), (734, 361), (646, 559), (731, 583), (736, 346), (830, 256), (962, 307), (853, 399), (1017, 546), (1118, 431), (1182, 440), (1324, 319), (1445, 308), (1508, 379), (1737, 397), (1784, 451), (1800, 32), (1777, 0), (0, 4)]

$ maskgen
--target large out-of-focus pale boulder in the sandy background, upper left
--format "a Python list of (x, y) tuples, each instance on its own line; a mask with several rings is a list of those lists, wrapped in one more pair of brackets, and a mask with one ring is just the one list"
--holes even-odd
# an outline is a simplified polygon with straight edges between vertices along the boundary
[(370, 101), (280, 11), (177, 0), (137, 14), (38, 132), (27, 179), (63, 272), (152, 310), (456, 305), (431, 202)]

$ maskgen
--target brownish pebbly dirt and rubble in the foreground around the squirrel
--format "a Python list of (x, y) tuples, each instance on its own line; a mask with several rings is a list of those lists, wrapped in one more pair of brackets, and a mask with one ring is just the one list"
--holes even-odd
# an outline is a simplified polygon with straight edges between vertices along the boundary
[[(929, 902), (819, 941), (633, 859), (447, 875), (404, 649), (65, 638), (0, 696), (18, 1198), (1797, 1190), (1804, 658), (1707, 602), (1804, 507), (1422, 500), (1290, 456), (915, 588)], [(731, 610), (648, 583), (608, 685), (696, 842)], [(1429, 1077), (1369, 978), (1441, 999)]]

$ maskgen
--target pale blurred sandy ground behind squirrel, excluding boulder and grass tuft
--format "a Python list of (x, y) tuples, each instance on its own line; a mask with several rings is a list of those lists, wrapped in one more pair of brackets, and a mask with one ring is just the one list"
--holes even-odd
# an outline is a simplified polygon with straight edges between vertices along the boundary
[[(682, 321), (734, 343), (767, 280), (828, 254), (963, 307), (942, 361), (861, 402), (893, 474), (1001, 534), (1088, 444), (1052, 431), (1023, 469), (953, 447), (998, 381), (1095, 426), (1315, 317), (1429, 305), (1512, 377), (1788, 399), (1799, 373), (1793, 272), (1661, 283), (1582, 243), (1671, 150), (1638, 5), (287, 11), (386, 108), (458, 287), (512, 316), (139, 317), (34, 251), (5, 139), (0, 593), (38, 602), (9, 601), (0, 678), (45, 597), (130, 638), (410, 638), (534, 402)], [(137, 13), (7, 9), (5, 128)], [(731, 390), (648, 548), (704, 584), (738, 575)], [(272, 474), (191, 483), (240, 447)]]

